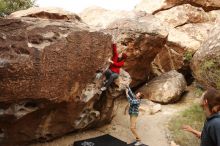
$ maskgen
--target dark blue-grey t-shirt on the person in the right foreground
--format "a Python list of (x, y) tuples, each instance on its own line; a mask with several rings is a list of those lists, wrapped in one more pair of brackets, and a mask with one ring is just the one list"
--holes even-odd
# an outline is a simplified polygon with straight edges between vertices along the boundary
[(220, 146), (220, 113), (207, 118), (202, 130), (200, 146)]

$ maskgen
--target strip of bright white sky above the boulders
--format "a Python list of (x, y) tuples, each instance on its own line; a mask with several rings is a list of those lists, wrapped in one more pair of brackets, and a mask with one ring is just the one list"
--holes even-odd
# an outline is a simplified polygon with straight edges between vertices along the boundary
[(40, 7), (60, 7), (72, 12), (81, 12), (89, 6), (101, 6), (111, 10), (132, 10), (140, 0), (36, 0)]

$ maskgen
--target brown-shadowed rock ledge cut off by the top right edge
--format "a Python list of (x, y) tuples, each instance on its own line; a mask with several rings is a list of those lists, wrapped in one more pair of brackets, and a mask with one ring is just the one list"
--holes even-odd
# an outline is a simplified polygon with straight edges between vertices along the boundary
[(142, 0), (135, 6), (135, 10), (155, 14), (181, 4), (191, 4), (196, 7), (202, 7), (206, 11), (220, 9), (219, 0)]

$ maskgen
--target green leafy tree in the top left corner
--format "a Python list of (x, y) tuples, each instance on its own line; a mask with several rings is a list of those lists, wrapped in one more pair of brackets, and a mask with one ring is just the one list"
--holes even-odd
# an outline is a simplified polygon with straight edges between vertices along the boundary
[(6, 16), (12, 12), (30, 8), (35, 0), (0, 0), (0, 16)]

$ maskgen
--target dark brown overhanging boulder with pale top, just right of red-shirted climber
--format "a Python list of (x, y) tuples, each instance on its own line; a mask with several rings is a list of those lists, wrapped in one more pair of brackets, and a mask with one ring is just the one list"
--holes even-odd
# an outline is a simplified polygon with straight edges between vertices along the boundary
[(118, 46), (119, 52), (128, 55), (124, 69), (131, 75), (132, 87), (151, 78), (150, 64), (165, 44), (166, 29), (156, 18), (146, 16), (139, 21), (117, 20), (104, 30), (112, 34), (118, 44), (122, 44)]

